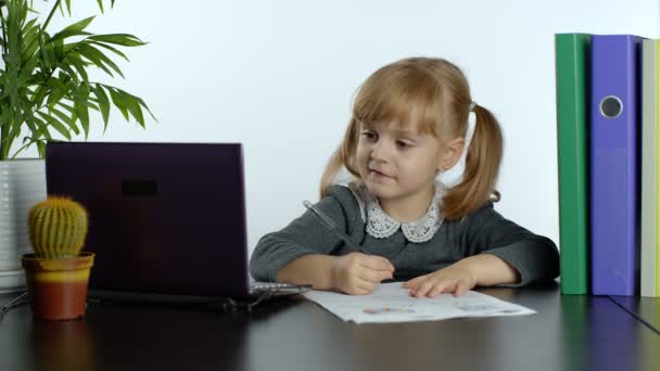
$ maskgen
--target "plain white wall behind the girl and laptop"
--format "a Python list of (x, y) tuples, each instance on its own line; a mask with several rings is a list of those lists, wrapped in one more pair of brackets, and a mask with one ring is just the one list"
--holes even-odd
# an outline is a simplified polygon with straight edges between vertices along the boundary
[[(72, 3), (66, 23), (98, 13), (96, 1)], [(109, 131), (97, 125), (90, 140), (243, 142), (251, 250), (303, 213), (302, 200), (317, 200), (358, 85), (410, 55), (464, 68), (474, 100), (504, 127), (496, 208), (557, 242), (553, 35), (657, 38), (660, 27), (652, 0), (177, 3), (117, 0), (92, 23), (96, 33), (150, 42), (128, 51), (126, 80), (116, 85), (142, 97), (158, 123), (142, 130), (115, 114)], [(65, 24), (60, 18), (53, 26)]]

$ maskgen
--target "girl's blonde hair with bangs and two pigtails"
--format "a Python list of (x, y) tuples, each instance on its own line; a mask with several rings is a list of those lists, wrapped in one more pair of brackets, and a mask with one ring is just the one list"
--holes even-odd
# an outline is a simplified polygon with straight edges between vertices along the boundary
[[(360, 121), (414, 125), (441, 141), (465, 138), (471, 102), (466, 76), (445, 60), (411, 57), (378, 69), (354, 99), (353, 117), (321, 177), (321, 199), (342, 166), (359, 178), (355, 153)], [(462, 180), (443, 199), (447, 219), (461, 218), (487, 201), (499, 201), (495, 182), (502, 162), (502, 130), (488, 110), (475, 105), (472, 111), (477, 120)]]

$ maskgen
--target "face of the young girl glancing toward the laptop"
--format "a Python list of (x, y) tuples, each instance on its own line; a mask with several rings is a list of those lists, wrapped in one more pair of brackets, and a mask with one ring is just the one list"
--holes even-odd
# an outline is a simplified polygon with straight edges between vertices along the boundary
[(414, 128), (402, 129), (396, 123), (359, 124), (357, 169), (381, 203), (432, 195), (443, 152), (435, 137)]

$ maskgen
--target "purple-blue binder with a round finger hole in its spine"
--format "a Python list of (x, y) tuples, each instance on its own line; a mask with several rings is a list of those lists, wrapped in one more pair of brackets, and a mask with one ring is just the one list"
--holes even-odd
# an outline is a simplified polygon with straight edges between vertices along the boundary
[(638, 279), (638, 106), (635, 36), (592, 37), (592, 292), (635, 295)]

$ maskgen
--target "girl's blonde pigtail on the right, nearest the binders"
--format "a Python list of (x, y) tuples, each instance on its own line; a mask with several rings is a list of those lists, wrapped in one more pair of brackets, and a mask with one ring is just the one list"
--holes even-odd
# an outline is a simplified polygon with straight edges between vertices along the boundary
[(503, 154), (503, 137), (499, 124), (493, 114), (475, 105), (474, 133), (468, 153), (462, 181), (447, 191), (443, 199), (443, 214), (447, 219), (458, 219), (484, 202), (499, 201), (495, 182)]

